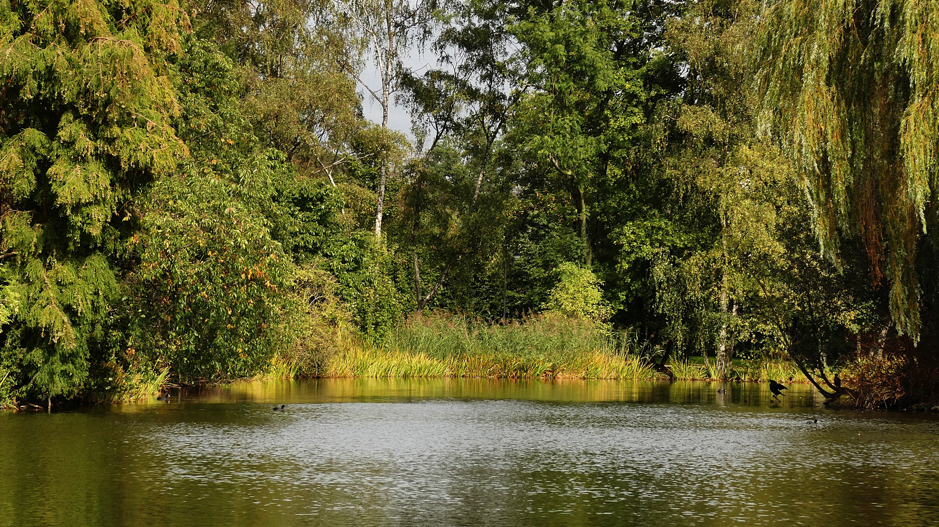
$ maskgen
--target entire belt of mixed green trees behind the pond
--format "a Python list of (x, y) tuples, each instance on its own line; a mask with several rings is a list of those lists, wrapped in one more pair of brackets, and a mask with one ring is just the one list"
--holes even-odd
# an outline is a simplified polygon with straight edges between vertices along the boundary
[(936, 399), (937, 13), (0, 0), (0, 402), (564, 324)]

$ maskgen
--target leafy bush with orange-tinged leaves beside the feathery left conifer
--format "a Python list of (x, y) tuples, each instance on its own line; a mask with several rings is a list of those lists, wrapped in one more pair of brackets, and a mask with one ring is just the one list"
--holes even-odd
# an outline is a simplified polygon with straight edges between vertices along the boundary
[(272, 181), (293, 167), (252, 135), (232, 62), (207, 42), (184, 47), (176, 126), (190, 155), (139, 200), (128, 346), (183, 382), (220, 381), (266, 368), (282, 342), (294, 266), (272, 234)]

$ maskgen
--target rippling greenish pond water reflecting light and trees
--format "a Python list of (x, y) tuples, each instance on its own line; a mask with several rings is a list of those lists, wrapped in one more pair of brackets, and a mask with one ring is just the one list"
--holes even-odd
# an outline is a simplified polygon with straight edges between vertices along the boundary
[(0, 413), (0, 526), (939, 525), (936, 415), (787, 394), (322, 379)]

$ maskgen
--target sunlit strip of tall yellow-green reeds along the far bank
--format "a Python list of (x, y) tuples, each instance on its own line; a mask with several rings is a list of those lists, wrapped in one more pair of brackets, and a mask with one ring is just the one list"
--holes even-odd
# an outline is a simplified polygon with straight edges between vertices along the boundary
[[(486, 324), (461, 316), (411, 317), (380, 344), (344, 346), (327, 361), (325, 377), (493, 377), (654, 380), (634, 339), (588, 321), (539, 315), (511, 324)], [(713, 362), (711, 365), (713, 367)], [(670, 361), (675, 379), (708, 380), (706, 364)], [(741, 381), (797, 380), (784, 362), (735, 364)]]

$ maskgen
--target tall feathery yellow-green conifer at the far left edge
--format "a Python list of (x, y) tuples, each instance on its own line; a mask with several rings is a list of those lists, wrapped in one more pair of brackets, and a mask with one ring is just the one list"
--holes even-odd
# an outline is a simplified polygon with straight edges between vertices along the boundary
[(175, 0), (0, 1), (3, 363), (24, 396), (81, 388), (134, 200), (187, 153), (166, 59), (188, 24)]

